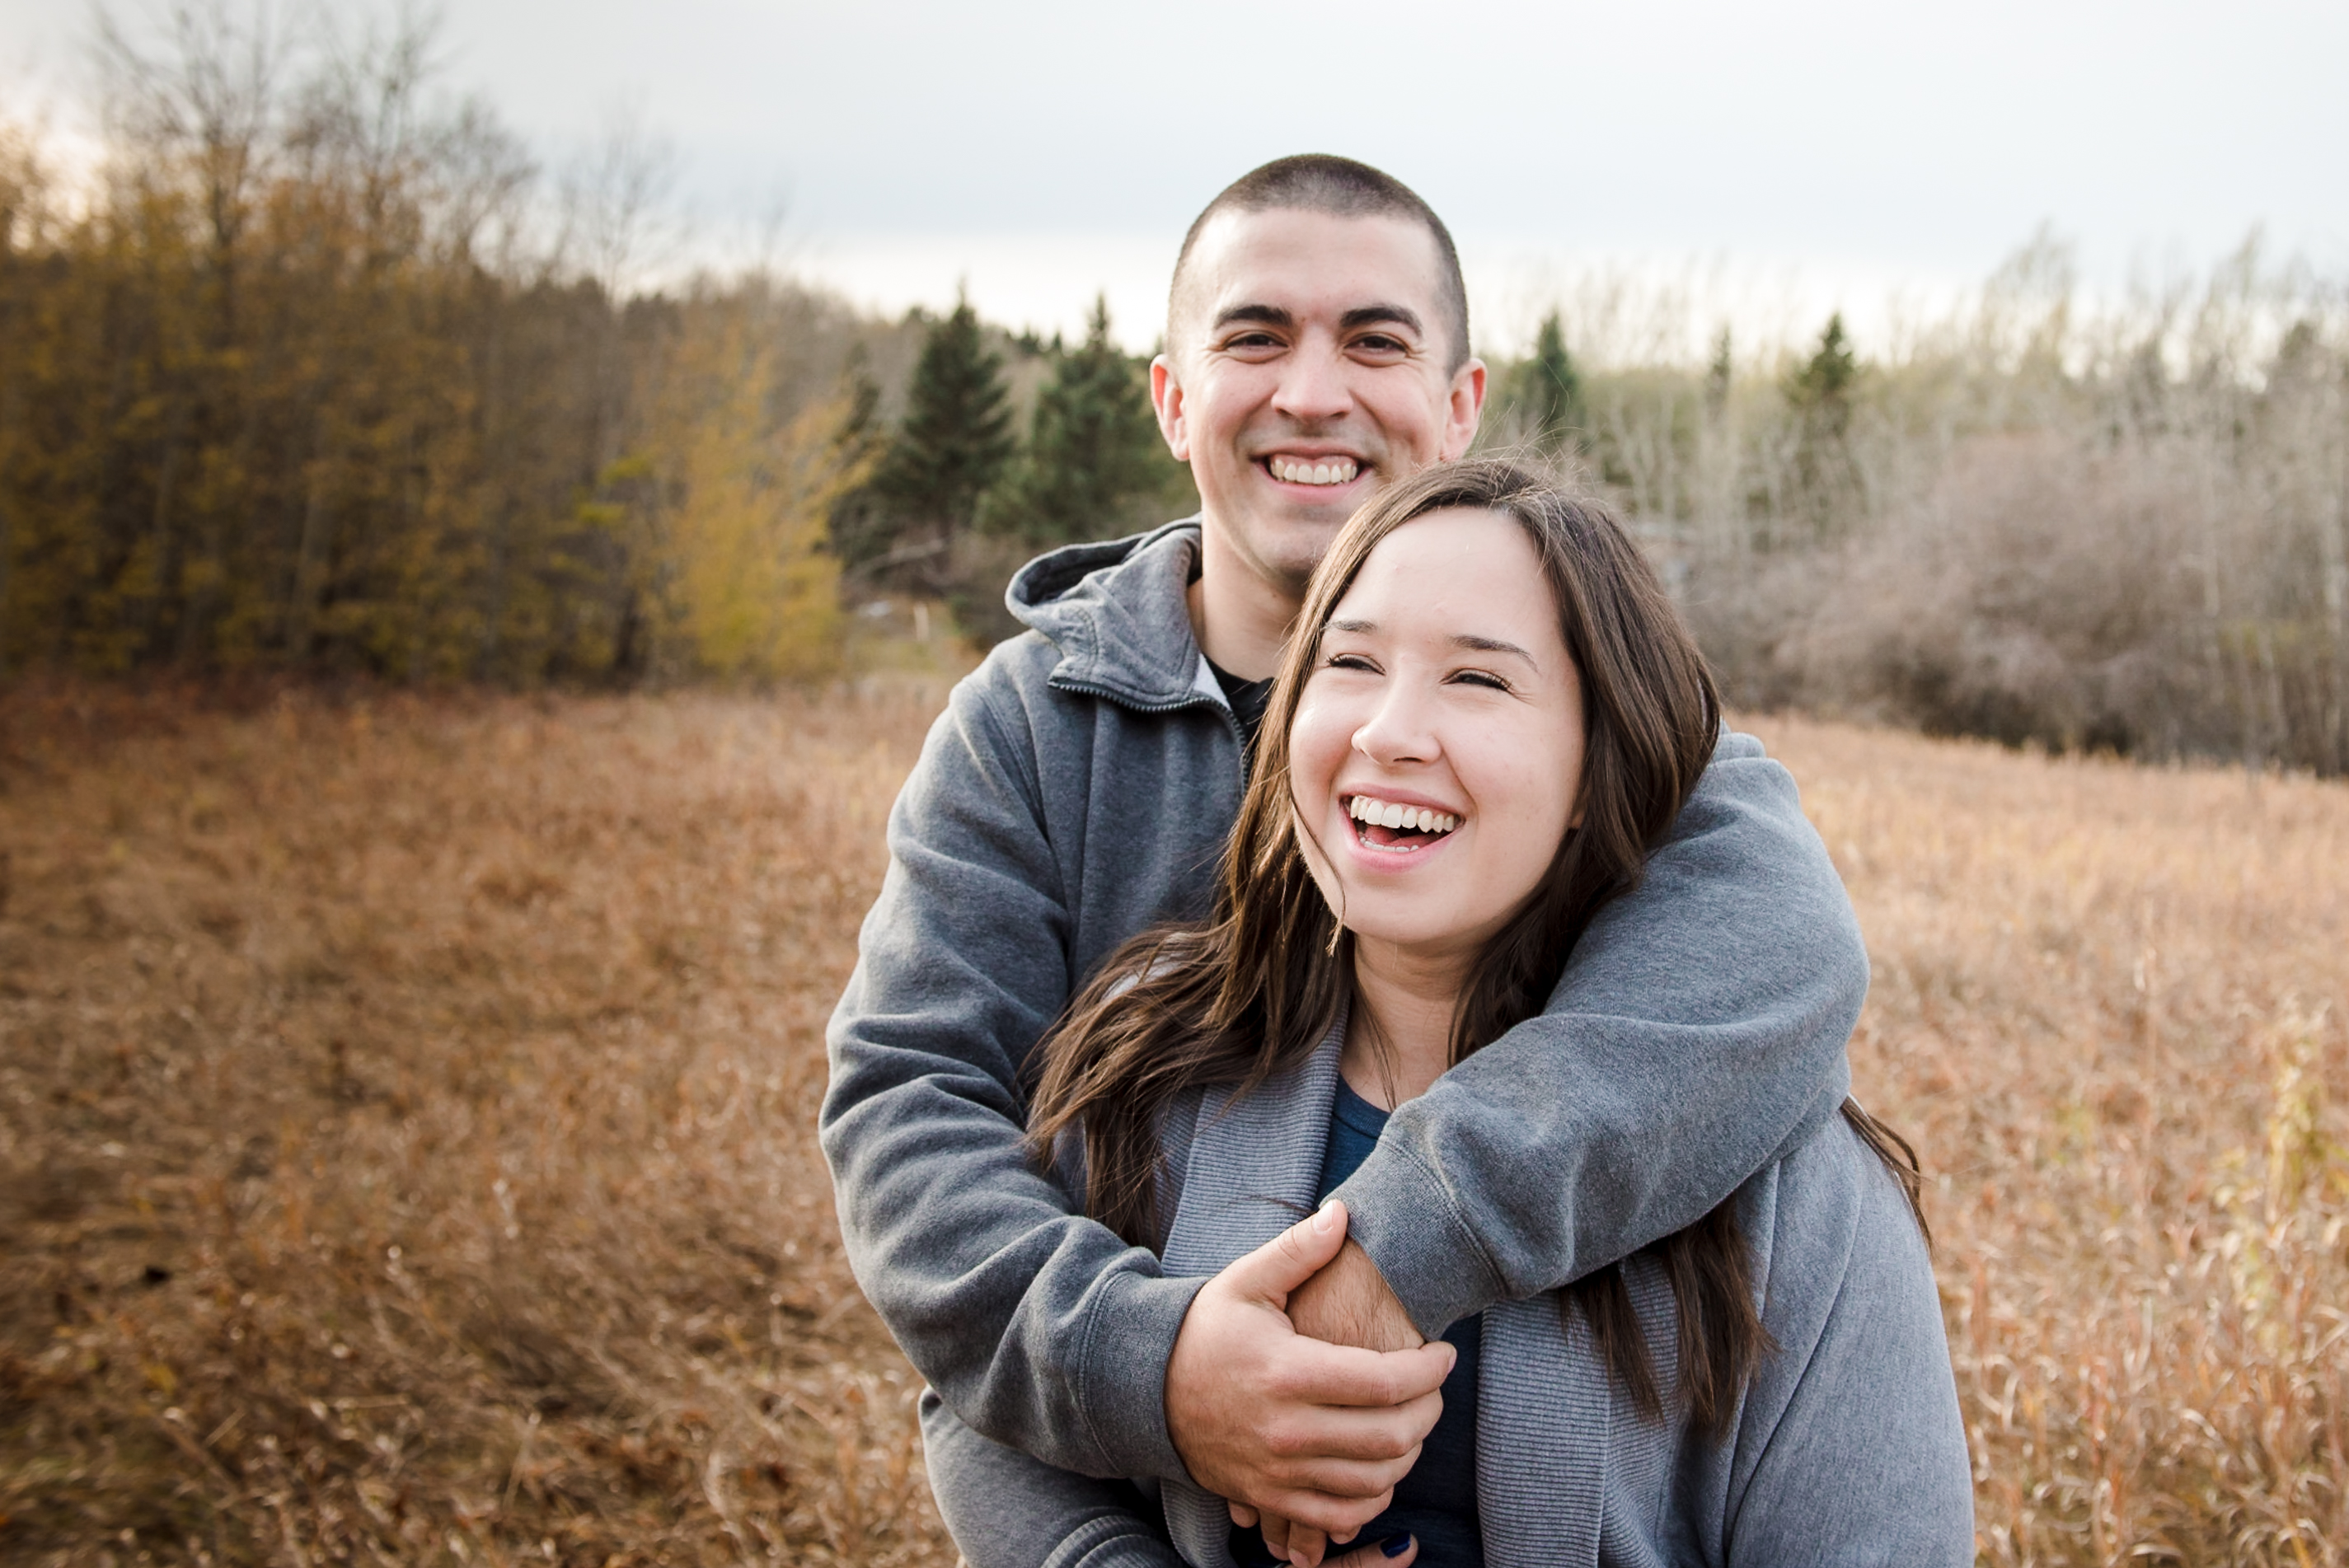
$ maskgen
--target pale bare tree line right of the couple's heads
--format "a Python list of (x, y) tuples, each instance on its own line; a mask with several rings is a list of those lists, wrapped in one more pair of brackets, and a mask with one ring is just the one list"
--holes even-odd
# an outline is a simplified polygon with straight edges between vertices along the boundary
[(1623, 507), (1731, 702), (2349, 775), (2337, 286), (2246, 249), (2100, 303), (2041, 239), (1875, 354), (1837, 315), (1696, 364), (1576, 361), (1680, 322), (1562, 305), (1485, 439)]

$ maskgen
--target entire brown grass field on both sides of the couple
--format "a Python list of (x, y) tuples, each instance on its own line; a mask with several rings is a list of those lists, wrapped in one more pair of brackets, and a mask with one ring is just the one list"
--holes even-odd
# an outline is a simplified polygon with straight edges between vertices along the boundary
[[(0, 697), (0, 1559), (951, 1563), (813, 1143), (940, 695)], [(1983, 1559), (2349, 1563), (2349, 789), (1757, 728)]]

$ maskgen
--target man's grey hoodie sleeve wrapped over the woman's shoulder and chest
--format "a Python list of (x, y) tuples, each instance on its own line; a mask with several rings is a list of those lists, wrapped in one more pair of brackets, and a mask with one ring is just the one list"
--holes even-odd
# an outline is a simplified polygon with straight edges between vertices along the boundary
[(1867, 951), (1795, 779), (1724, 735), (1548, 1009), (1398, 1108), (1337, 1190), (1421, 1333), (1694, 1223), (1837, 1113)]

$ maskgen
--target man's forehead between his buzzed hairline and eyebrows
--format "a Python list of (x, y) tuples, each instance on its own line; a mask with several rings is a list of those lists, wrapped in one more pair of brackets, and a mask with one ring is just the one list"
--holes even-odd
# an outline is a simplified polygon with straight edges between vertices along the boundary
[(1273, 305), (1292, 315), (1346, 315), (1405, 305), (1431, 331), (1440, 322), (1435, 235), (1393, 214), (1311, 209), (1221, 211), (1184, 258), (1177, 331), (1212, 331), (1219, 315)]

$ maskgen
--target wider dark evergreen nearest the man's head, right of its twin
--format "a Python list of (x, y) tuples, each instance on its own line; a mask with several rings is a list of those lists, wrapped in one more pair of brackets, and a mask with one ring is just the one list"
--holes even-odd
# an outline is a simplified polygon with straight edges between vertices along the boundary
[(1092, 300), (1085, 343), (1064, 350), (1036, 397), (1027, 455), (989, 500), (987, 526), (1031, 545), (1109, 538), (1142, 521), (1174, 460), (1158, 437), (1142, 364), (1109, 340), (1109, 298)]

